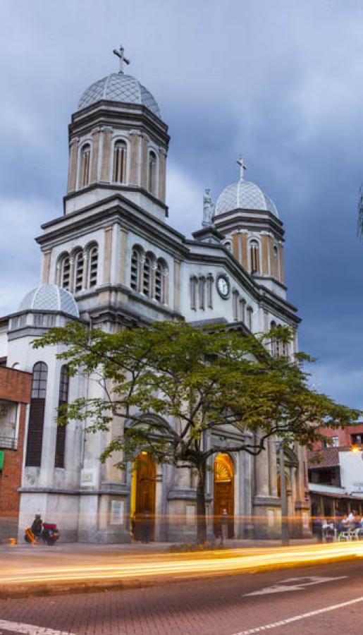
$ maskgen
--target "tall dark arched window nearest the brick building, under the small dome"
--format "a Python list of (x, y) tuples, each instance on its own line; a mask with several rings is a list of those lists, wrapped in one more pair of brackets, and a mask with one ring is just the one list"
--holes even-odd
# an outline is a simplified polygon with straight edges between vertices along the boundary
[(48, 367), (37, 362), (32, 370), (32, 397), (30, 401), (29, 425), (27, 428), (27, 452), (25, 465), (40, 467), (44, 428), (45, 397), (47, 395)]

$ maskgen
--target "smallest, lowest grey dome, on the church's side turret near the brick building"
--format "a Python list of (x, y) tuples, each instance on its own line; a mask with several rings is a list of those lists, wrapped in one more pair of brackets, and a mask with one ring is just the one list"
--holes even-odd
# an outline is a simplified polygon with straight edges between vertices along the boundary
[(73, 295), (56, 284), (41, 284), (29, 291), (20, 302), (19, 311), (61, 311), (73, 317), (80, 317)]

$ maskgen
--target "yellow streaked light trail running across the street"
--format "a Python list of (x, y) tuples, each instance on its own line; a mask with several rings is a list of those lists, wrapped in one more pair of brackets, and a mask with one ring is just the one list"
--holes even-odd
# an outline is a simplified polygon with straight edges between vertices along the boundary
[[(96, 556), (97, 564), (75, 564), (37, 567), (35, 559), (27, 562), (28, 569), (0, 569), (0, 588), (12, 585), (34, 585), (49, 583), (99, 583), (101, 581), (122, 582), (130, 579), (152, 580), (163, 576), (195, 576), (197, 574), (230, 574), (248, 571), (263, 571), (278, 567), (292, 567), (319, 562), (334, 562), (347, 558), (363, 557), (363, 543), (333, 543), (329, 545), (307, 545), (303, 547), (273, 548), (259, 550), (230, 550), (220, 552), (198, 552), (188, 555), (148, 554), (140, 562), (130, 555), (118, 555), (118, 562), (106, 564)], [(31, 569), (30, 569), (31, 567)]]

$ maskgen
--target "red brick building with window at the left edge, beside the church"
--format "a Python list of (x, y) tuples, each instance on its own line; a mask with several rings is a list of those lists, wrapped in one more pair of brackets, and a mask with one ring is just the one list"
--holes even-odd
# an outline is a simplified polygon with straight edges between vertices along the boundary
[(17, 536), (23, 444), (32, 374), (0, 361), (0, 539)]

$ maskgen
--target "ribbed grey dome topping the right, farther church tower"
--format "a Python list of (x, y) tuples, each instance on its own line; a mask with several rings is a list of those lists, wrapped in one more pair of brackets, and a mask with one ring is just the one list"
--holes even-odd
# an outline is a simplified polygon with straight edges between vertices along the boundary
[(232, 210), (259, 210), (271, 212), (278, 218), (275, 203), (259, 186), (250, 181), (240, 179), (238, 183), (231, 183), (219, 195), (214, 215)]

